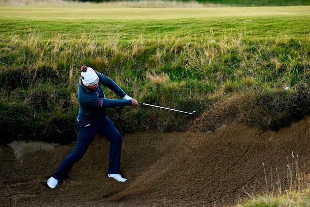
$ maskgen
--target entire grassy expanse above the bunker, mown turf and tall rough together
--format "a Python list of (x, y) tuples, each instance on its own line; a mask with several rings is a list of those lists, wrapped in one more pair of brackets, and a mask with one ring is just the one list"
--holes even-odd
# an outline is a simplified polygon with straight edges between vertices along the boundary
[[(139, 101), (189, 111), (204, 111), (210, 100), (233, 93), (276, 93), (285, 86), (293, 93), (309, 84), (310, 6), (80, 6), (0, 7), (3, 140), (53, 139), (59, 131), (74, 137), (84, 64)], [(158, 110), (109, 113), (121, 131), (182, 128), (161, 125), (180, 117)], [(122, 122), (124, 116), (135, 121)]]

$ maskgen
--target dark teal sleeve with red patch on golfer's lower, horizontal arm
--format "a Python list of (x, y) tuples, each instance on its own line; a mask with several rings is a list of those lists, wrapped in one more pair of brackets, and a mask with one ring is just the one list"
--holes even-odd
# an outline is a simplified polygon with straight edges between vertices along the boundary
[(131, 105), (131, 100), (114, 100), (107, 98), (90, 97), (84, 101), (84, 105), (87, 107), (114, 108), (119, 106)]

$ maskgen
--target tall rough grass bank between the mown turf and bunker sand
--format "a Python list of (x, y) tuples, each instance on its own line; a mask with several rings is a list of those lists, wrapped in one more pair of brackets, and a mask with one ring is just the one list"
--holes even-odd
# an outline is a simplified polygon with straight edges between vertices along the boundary
[[(0, 48), (0, 116), (8, 128), (3, 137), (44, 138), (58, 132), (74, 136), (81, 65), (110, 77), (141, 102), (193, 111), (236, 92), (277, 92), (289, 86), (293, 93), (308, 87), (309, 42), (250, 41), (240, 36), (194, 41), (140, 38), (124, 43), (117, 36), (82, 34), (71, 40), (62, 35), (46, 39), (36, 31), (12, 35), (1, 41)], [(106, 95), (117, 98), (109, 90)], [(122, 131), (141, 129), (141, 120), (144, 128), (182, 128), (178, 122), (159, 122), (179, 118), (159, 110), (125, 107), (109, 113)], [(122, 117), (136, 122), (124, 123)]]

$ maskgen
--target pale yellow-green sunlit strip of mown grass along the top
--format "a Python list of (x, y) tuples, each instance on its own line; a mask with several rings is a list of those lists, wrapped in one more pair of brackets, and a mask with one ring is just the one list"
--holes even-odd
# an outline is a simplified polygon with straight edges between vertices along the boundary
[[(61, 8), (60, 8), (61, 7)], [(55, 6), (2, 6), (1, 17), (30, 20), (170, 20), (209, 17), (309, 16), (309, 6), (219, 7), (219, 8), (106, 8), (89, 4)], [(85, 10), (86, 9), (86, 10)]]

